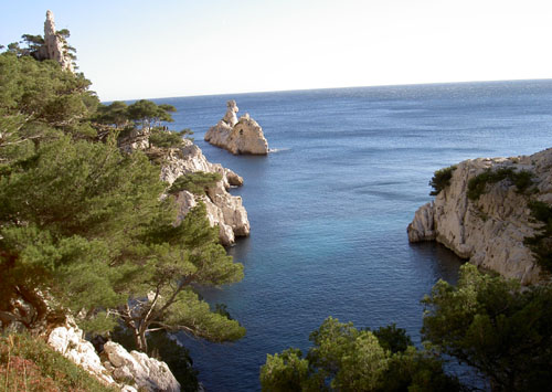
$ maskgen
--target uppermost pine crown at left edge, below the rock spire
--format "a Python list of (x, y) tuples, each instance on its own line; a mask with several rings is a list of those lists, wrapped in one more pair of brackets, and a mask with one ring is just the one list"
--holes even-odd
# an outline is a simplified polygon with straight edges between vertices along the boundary
[(34, 144), (62, 134), (94, 137), (87, 120), (98, 99), (89, 84), (55, 62), (0, 54), (0, 165), (25, 157)]

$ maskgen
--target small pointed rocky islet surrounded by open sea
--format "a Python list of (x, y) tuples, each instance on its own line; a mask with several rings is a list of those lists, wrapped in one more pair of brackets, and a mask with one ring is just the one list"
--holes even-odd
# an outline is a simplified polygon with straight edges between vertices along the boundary
[(235, 100), (229, 100), (226, 105), (226, 114), (206, 131), (205, 141), (222, 147), (234, 155), (267, 155), (268, 142), (263, 134), (263, 128), (248, 114), (237, 120), (238, 108)]

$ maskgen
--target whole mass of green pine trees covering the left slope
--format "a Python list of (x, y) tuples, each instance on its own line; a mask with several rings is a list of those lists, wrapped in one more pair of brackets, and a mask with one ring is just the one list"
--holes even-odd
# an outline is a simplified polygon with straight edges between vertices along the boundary
[[(163, 133), (158, 148), (178, 146), (182, 136), (161, 127), (174, 108), (139, 100), (106, 109), (88, 87), (55, 62), (0, 54), (2, 327), (39, 328), (71, 311), (89, 332), (124, 325), (142, 351), (152, 330), (241, 338), (237, 321), (195, 294), (243, 277), (204, 205), (174, 225), (160, 168), (117, 147), (119, 127)], [(36, 312), (26, 317), (19, 299)]]

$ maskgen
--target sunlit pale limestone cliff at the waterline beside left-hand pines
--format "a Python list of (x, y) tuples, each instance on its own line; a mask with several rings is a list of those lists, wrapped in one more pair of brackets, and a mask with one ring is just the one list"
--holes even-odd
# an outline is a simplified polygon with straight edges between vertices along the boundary
[(233, 244), (236, 236), (248, 235), (250, 221), (247, 211), (242, 204), (242, 198), (227, 192), (230, 187), (242, 186), (243, 179), (219, 163), (209, 162), (201, 149), (192, 141), (184, 140), (184, 147), (169, 151), (161, 168), (161, 180), (172, 184), (180, 176), (195, 171), (216, 172), (222, 176), (222, 180), (215, 187), (210, 188), (206, 195), (199, 197), (188, 191), (179, 192), (177, 194), (178, 222), (201, 200), (205, 203), (211, 224), (219, 225), (219, 235), (224, 245)]

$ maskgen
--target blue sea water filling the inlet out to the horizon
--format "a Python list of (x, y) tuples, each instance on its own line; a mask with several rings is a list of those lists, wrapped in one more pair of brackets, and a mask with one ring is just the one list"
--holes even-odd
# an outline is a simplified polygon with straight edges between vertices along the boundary
[[(203, 141), (227, 99), (263, 127), (267, 157)], [(358, 327), (396, 322), (420, 343), (420, 300), (461, 261), (408, 244), (433, 172), (477, 157), (552, 146), (552, 81), (320, 89), (157, 99), (178, 108), (212, 162), (240, 173), (251, 237), (230, 250), (243, 282), (202, 294), (247, 329), (232, 345), (184, 337), (209, 391), (255, 391), (267, 353), (308, 348), (329, 315)]]

